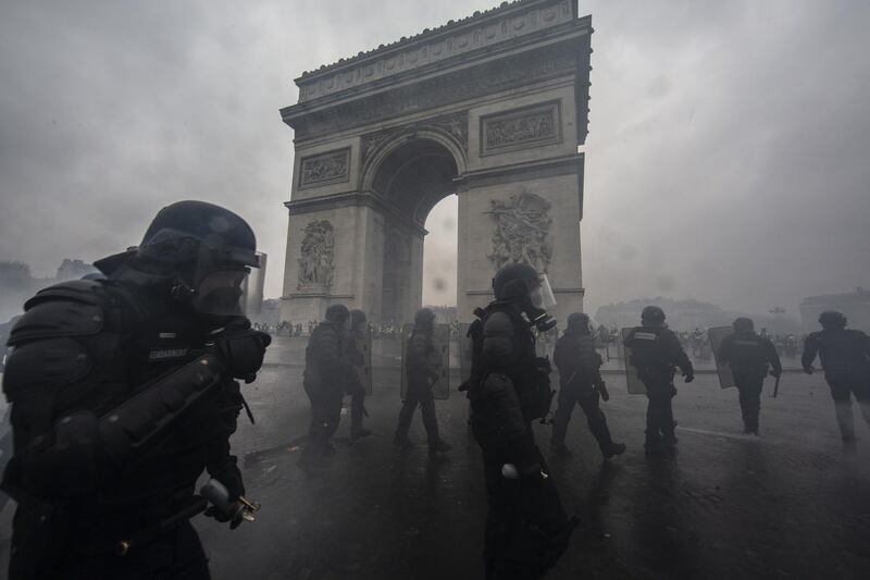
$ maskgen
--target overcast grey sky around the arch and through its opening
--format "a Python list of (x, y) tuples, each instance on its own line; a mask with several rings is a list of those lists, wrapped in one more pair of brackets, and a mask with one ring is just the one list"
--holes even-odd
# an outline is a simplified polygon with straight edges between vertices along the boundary
[[(293, 78), (497, 3), (0, 0), (0, 260), (52, 275), (204, 199), (251, 223), (279, 296)], [(589, 310), (666, 295), (796, 313), (870, 287), (870, 2), (581, 1), (589, 13)], [(425, 300), (451, 304), (455, 199), (427, 227)]]

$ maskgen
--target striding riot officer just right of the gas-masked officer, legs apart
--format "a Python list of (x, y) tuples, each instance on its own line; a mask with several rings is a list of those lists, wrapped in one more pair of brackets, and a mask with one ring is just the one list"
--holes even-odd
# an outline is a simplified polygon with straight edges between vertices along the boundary
[(559, 369), (559, 407), (552, 418), (550, 448), (562, 456), (571, 455), (564, 437), (574, 405), (580, 404), (601, 454), (610, 459), (623, 453), (625, 445), (613, 443), (605, 414), (598, 406), (600, 398), (608, 400), (610, 395), (599, 371), (601, 356), (595, 351), (591, 334), (589, 317), (574, 312), (568, 317), (568, 330), (556, 343), (552, 358)]

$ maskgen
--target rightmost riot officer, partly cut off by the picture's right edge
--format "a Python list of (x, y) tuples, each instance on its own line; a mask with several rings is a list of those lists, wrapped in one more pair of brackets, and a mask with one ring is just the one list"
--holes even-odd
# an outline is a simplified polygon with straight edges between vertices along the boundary
[(807, 336), (800, 362), (807, 374), (816, 370), (816, 355), (821, 358), (824, 379), (831, 387), (836, 421), (846, 451), (855, 449), (855, 425), (852, 397), (858, 400), (865, 421), (870, 424), (870, 337), (861, 331), (846, 329), (842, 312), (826, 311), (819, 316), (821, 332)]

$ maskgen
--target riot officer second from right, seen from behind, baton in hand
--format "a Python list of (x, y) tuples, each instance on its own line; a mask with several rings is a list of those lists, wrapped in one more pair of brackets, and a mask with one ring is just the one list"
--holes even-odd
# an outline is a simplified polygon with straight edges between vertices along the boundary
[(768, 374), (768, 363), (773, 367), (770, 374), (780, 378), (782, 365), (776, 348), (770, 338), (756, 334), (753, 321), (738, 318), (734, 321), (734, 333), (722, 338), (719, 361), (731, 367), (734, 384), (739, 392), (743, 432), (758, 434), (758, 412), (761, 408), (761, 388)]

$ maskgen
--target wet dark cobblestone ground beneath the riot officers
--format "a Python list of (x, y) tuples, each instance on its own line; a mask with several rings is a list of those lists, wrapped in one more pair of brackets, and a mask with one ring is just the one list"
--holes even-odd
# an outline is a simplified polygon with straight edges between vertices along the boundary
[[(385, 360), (389, 356), (386, 356)], [(274, 361), (274, 359), (273, 359)], [(716, 375), (679, 384), (679, 451), (643, 453), (646, 399), (606, 375), (604, 405), (621, 457), (602, 461), (581, 409), (569, 431), (571, 460), (552, 460), (566, 506), (583, 523), (547, 578), (866, 578), (870, 570), (870, 430), (856, 408), (858, 453), (844, 456), (833, 404), (820, 375), (786, 373), (780, 395), (766, 386), (761, 436), (741, 434), (734, 388)], [(468, 406), (438, 402), (446, 459), (426, 459), (419, 415), (410, 451), (391, 445), (398, 371), (375, 372), (368, 402), (374, 434), (349, 444), (347, 417), (325, 469), (296, 467), (307, 429), (301, 369), (270, 365), (247, 387), (257, 424), (234, 437), (256, 522), (231, 531), (195, 519), (213, 577), (229, 579), (482, 578), (485, 511), (480, 454)], [(536, 427), (546, 448), (547, 428)], [(12, 509), (0, 514), (5, 569)]]

